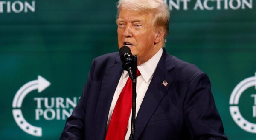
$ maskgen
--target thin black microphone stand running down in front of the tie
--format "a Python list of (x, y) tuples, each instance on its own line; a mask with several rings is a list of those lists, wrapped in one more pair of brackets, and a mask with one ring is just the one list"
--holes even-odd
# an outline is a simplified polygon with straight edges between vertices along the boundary
[(132, 78), (132, 112), (131, 112), (131, 140), (134, 140), (135, 118), (136, 118), (136, 78), (137, 78), (137, 56), (132, 58), (133, 78)]

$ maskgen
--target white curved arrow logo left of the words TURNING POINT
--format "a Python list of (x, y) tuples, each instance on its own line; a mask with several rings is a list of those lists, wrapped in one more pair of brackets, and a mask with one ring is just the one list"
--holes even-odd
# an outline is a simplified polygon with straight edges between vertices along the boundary
[(38, 75), (37, 80), (29, 81), (28, 83), (24, 84), (20, 89), (17, 91), (13, 101), (12, 101), (12, 107), (14, 108), (12, 110), (12, 114), (14, 117), (15, 122), (17, 125), (22, 129), (24, 132), (31, 134), (33, 136), (42, 136), (42, 128), (32, 126), (29, 124), (25, 118), (22, 115), (21, 112), (21, 106), (23, 99), (26, 97), (29, 92), (38, 89), (38, 93), (41, 93), (44, 89), (50, 86), (50, 82), (47, 81), (42, 76)]

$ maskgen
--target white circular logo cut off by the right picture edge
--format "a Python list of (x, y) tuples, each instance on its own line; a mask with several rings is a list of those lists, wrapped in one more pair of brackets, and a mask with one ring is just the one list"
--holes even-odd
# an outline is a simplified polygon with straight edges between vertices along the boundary
[[(247, 132), (256, 133), (256, 124), (247, 121), (239, 111), (239, 98), (242, 93), (250, 87), (255, 87), (256, 89), (256, 73), (254, 77), (249, 77), (241, 81), (233, 90), (230, 96), (230, 114), (236, 124)], [(254, 97), (252, 95), (252, 97)], [(255, 98), (255, 97), (254, 97)], [(253, 113), (255, 115), (255, 113)]]

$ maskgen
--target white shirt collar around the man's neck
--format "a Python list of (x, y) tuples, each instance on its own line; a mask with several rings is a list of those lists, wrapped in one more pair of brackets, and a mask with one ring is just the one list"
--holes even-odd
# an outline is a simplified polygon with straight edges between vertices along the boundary
[[(162, 53), (163, 53), (163, 49), (161, 48), (153, 57), (151, 57), (151, 59), (141, 64), (140, 66), (137, 66), (141, 76), (143, 77), (146, 83), (148, 83), (151, 77), (153, 76), (154, 71), (156, 70), (157, 64), (162, 56)], [(127, 78), (128, 77), (127, 71), (124, 70), (123, 73), (124, 73), (123, 79)]]

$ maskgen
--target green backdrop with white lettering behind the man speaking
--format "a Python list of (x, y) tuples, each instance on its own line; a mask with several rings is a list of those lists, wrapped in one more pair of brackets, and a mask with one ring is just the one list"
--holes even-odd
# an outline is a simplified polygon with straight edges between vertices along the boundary
[[(209, 75), (227, 137), (255, 140), (256, 133), (240, 128), (229, 109), (233, 89), (256, 72), (255, 1), (219, 0), (218, 7), (218, 0), (190, 0), (187, 9), (184, 0), (165, 1), (172, 7), (166, 50)], [(118, 51), (116, 3), (117, 0), (0, 1), (0, 139), (59, 138), (72, 103), (76, 104), (81, 95), (93, 58)], [(180, 3), (180, 9), (172, 3)], [(202, 3), (204, 9), (194, 9), (196, 3)], [(38, 75), (50, 82), (41, 93), (37, 90)], [(34, 90), (28, 87), (33, 80), (37, 83)], [(21, 89), (22, 106), (13, 107), (21, 87), (26, 89)], [(256, 88), (247, 88), (237, 105), (250, 123), (256, 123), (253, 94)], [(22, 111), (29, 124), (41, 128), (41, 137), (18, 126), (13, 116), (15, 109)], [(24, 127), (27, 131), (32, 129)]]

